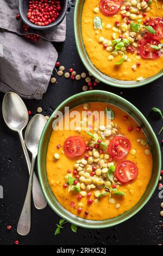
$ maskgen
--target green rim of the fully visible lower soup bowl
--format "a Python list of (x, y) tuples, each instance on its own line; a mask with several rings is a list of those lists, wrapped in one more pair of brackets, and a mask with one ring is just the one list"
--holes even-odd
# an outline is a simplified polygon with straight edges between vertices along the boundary
[[(148, 128), (148, 130), (150, 131), (151, 133), (151, 137), (153, 137), (154, 139), (154, 144), (156, 146), (156, 151), (157, 151), (157, 154), (158, 154), (158, 173), (157, 173), (157, 176), (156, 176), (156, 179), (155, 179), (155, 182), (154, 182), (154, 185), (152, 187), (152, 189), (149, 191), (147, 197), (144, 199), (144, 201), (141, 203), (140, 206), (137, 207), (137, 209), (131, 213), (129, 213), (128, 216), (124, 216), (121, 220), (115, 220), (114, 223), (103, 223), (103, 224), (93, 224), (93, 226), (89, 227), (89, 223), (86, 223), (86, 222), (83, 222), (81, 223), (80, 220), (82, 218), (71, 218), (71, 216), (68, 216), (68, 214), (71, 214), (70, 212), (68, 212), (68, 214), (66, 214), (66, 212), (64, 213), (61, 213), (57, 207), (52, 204), (51, 202), (51, 199), (48, 197), (48, 192), (44, 186), (44, 182), (43, 182), (43, 175), (42, 175), (42, 172), (41, 172), (41, 162), (42, 162), (42, 159), (41, 159), (41, 151), (42, 151), (42, 147), (43, 147), (43, 141), (44, 141), (44, 138), (45, 138), (45, 135), (46, 135), (46, 131), (48, 129), (48, 126), (49, 124), (51, 124), (51, 121), (53, 119), (53, 113), (55, 113), (56, 111), (59, 111), (62, 107), (66, 106), (68, 103), (70, 103), (71, 101), (73, 101), (74, 99), (80, 97), (80, 96), (84, 96), (84, 95), (108, 95), (108, 97), (111, 97), (111, 96), (114, 96), (117, 100), (121, 100), (122, 103), (124, 103), (126, 106), (127, 105), (130, 105), (130, 108), (136, 113), (136, 115), (139, 116), (139, 119), (143, 121), (143, 123), (146, 125), (146, 127)], [(70, 106), (71, 106), (71, 103), (70, 103)], [(123, 109), (122, 109), (123, 110)], [(118, 96), (116, 94), (113, 94), (113, 93), (110, 93), (110, 92), (105, 92), (104, 90), (94, 90), (94, 91), (90, 91), (90, 92), (82, 92), (82, 93), (79, 93), (79, 94), (75, 94), (71, 97), (68, 97), (68, 99), (66, 99), (65, 101), (62, 101), (60, 103), (60, 105), (55, 109), (55, 111), (52, 113), (51, 117), (48, 119), (47, 121), (47, 124), (45, 126), (45, 128), (43, 129), (43, 132), (42, 132), (42, 135), (41, 135), (41, 139), (40, 139), (40, 143), (39, 143), (39, 149), (38, 149), (38, 155), (37, 155), (37, 172), (38, 172), (38, 175), (39, 175), (39, 180), (40, 180), (40, 184), (41, 184), (41, 187), (42, 187), (42, 191), (43, 191), (43, 194), (47, 200), (47, 203), (48, 205), (53, 209), (53, 211), (58, 214), (60, 217), (64, 218), (65, 220), (67, 220), (68, 222), (70, 222), (70, 219), (71, 219), (71, 223), (73, 224), (76, 224), (78, 225), (79, 227), (83, 227), (83, 228), (92, 228), (92, 229), (95, 229), (95, 228), (108, 228), (108, 227), (112, 227), (114, 225), (117, 225), (117, 224), (120, 224), (126, 220), (128, 220), (129, 218), (133, 217), (135, 214), (137, 214), (137, 212), (139, 212), (143, 206), (145, 206), (148, 202), (148, 200), (152, 197), (152, 194), (154, 193), (155, 191), (155, 188), (156, 186), (158, 185), (158, 180), (159, 180), (159, 175), (160, 175), (160, 169), (161, 169), (161, 151), (160, 151), (160, 145), (159, 145), (159, 142), (158, 142), (158, 139), (156, 138), (156, 135), (151, 127), (151, 125), (148, 123), (148, 120), (144, 117), (144, 115), (139, 111), (139, 109), (137, 109), (132, 103), (130, 103), (129, 101), (127, 101), (126, 99), (123, 99), (121, 96)], [(149, 185), (149, 184), (148, 184)], [(146, 192), (145, 192), (146, 193)], [(145, 195), (145, 193), (143, 195)], [(143, 197), (143, 196), (142, 196)], [(141, 199), (140, 199), (141, 200)], [(139, 203), (139, 202), (137, 202)], [(59, 202), (58, 204), (60, 206), (62, 206)], [(62, 206), (63, 207), (63, 206)], [(133, 206), (134, 207), (134, 206)], [(130, 209), (129, 209), (130, 210)], [(123, 213), (125, 214), (125, 212)], [(122, 214), (122, 215), (123, 215)], [(122, 216), (121, 215), (121, 216)], [(76, 216), (77, 217), (77, 216)], [(114, 217), (116, 218), (116, 217)], [(114, 219), (112, 218), (112, 220)], [(84, 219), (82, 219), (84, 220)], [(105, 221), (105, 220), (104, 220)]]

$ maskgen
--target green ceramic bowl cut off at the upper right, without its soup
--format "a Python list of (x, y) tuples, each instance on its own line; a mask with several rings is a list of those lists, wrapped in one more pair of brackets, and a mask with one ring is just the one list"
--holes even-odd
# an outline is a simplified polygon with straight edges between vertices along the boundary
[[(79, 56), (82, 59), (82, 62), (85, 65), (85, 68), (93, 76), (95, 76), (99, 81), (109, 84), (110, 86), (121, 87), (121, 88), (134, 88), (134, 87), (140, 87), (140, 86), (144, 86), (145, 84), (151, 83), (163, 75), (163, 70), (161, 70), (158, 74), (151, 76), (149, 78), (146, 78), (143, 81), (138, 82), (138, 81), (116, 80), (114, 78), (104, 75), (101, 71), (99, 71), (91, 63), (91, 60), (90, 60), (89, 56), (87, 55), (87, 52), (85, 50), (85, 46), (83, 43), (82, 11), (83, 11), (84, 2), (85, 2), (85, 0), (77, 0), (76, 1), (76, 6), (75, 6), (75, 10), (74, 10), (74, 33), (75, 33), (76, 45), (77, 45), (77, 50), (78, 50)], [(145, 72), (146, 72), (146, 70), (145, 70)]]

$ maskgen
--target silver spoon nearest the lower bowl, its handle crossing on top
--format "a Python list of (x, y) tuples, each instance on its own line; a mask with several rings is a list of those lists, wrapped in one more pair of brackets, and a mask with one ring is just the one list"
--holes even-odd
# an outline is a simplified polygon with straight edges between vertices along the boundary
[(32, 153), (32, 163), (30, 168), (30, 176), (29, 176), (26, 199), (24, 201), (21, 216), (17, 225), (17, 232), (20, 235), (28, 235), (30, 231), (31, 188), (32, 188), (32, 182), (33, 182), (33, 173), (34, 173), (35, 160), (37, 156), (37, 150), (39, 147), (39, 141), (40, 141), (41, 133), (43, 131), (45, 124), (46, 124), (46, 118), (41, 114), (36, 114), (30, 120), (26, 129), (25, 143), (26, 143), (27, 149)]

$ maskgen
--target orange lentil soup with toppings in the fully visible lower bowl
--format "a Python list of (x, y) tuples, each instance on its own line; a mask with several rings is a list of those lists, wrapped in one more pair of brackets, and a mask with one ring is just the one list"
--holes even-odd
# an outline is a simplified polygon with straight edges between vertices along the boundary
[[(110, 124), (106, 124), (108, 109)], [(141, 127), (122, 109), (90, 102), (70, 113), (84, 110), (87, 118), (81, 117), (76, 129), (53, 130), (46, 158), (48, 182), (67, 211), (89, 220), (106, 220), (139, 202), (151, 179), (153, 158)], [(105, 125), (95, 129), (95, 116), (89, 130), (82, 130), (93, 111), (104, 111)], [(76, 151), (70, 150), (77, 139)]]

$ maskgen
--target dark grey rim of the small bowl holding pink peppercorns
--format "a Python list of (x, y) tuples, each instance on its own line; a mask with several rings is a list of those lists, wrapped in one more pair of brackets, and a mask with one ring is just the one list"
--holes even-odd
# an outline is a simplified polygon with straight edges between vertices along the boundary
[(24, 15), (24, 12), (23, 12), (23, 1), (24, 0), (19, 0), (19, 5), (18, 5), (19, 11), (20, 11), (20, 15), (21, 15), (21, 19), (22, 19), (22, 21), (24, 23), (26, 23), (26, 25), (28, 25), (29, 27), (31, 27), (31, 28), (33, 28), (35, 30), (45, 31), (45, 30), (51, 29), (53, 27), (57, 27), (64, 20), (64, 18), (66, 16), (68, 0), (64, 0), (64, 2), (65, 2), (64, 11), (63, 11), (63, 13), (61, 15), (59, 15), (58, 19), (55, 22), (53, 22), (53, 23), (51, 23), (51, 24), (49, 24), (47, 26), (37, 26), (37, 25), (33, 24), (32, 22), (30, 22), (27, 19), (26, 15)]

